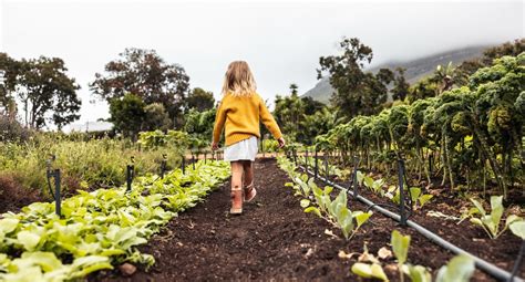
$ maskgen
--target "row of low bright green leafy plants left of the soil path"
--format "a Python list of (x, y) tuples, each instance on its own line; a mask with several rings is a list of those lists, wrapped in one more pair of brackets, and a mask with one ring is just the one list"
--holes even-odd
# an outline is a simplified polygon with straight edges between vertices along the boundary
[(135, 248), (228, 176), (225, 161), (198, 161), (186, 174), (176, 169), (162, 179), (138, 177), (131, 192), (125, 187), (80, 191), (63, 200), (62, 218), (54, 213), (52, 202), (4, 213), (0, 280), (74, 280), (125, 261), (150, 267), (153, 257)]

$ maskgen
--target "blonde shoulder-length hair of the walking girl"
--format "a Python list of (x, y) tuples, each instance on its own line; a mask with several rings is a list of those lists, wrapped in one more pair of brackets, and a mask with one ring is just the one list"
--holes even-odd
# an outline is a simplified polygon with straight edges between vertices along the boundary
[(228, 65), (224, 75), (223, 95), (249, 96), (257, 90), (254, 75), (245, 61), (235, 61)]

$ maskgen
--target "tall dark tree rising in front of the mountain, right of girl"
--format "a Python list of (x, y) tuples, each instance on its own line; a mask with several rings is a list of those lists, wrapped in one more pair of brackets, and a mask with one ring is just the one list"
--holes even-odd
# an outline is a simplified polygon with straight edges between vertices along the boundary
[[(347, 117), (360, 114), (372, 114), (381, 108), (387, 101), (387, 71), (378, 75), (364, 73), (364, 64), (372, 61), (372, 49), (362, 44), (359, 39), (344, 38), (339, 43), (340, 55), (321, 56), (319, 59), (318, 79), (323, 72), (330, 75), (330, 84), (336, 90), (331, 103), (339, 107)], [(391, 73), (391, 72), (390, 72)]]

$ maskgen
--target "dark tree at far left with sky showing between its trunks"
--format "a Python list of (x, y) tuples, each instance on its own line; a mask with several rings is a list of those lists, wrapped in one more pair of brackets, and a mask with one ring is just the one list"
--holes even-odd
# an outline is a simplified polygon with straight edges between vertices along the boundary
[(80, 86), (68, 76), (62, 59), (40, 56), (19, 63), (16, 94), (22, 103), (27, 126), (42, 128), (51, 119), (60, 129), (79, 119)]

